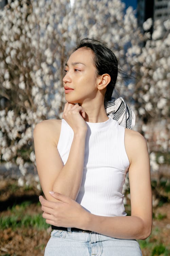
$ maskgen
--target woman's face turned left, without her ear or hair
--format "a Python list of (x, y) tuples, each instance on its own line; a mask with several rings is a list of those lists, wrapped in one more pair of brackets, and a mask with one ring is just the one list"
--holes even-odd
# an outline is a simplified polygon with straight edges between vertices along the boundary
[(90, 49), (79, 48), (73, 52), (66, 63), (65, 71), (63, 84), (66, 101), (83, 103), (96, 97), (97, 75)]

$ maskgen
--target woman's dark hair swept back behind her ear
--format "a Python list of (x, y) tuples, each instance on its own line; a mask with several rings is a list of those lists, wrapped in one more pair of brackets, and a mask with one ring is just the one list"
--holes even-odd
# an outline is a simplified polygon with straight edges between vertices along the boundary
[(78, 45), (74, 48), (73, 52), (82, 47), (92, 50), (97, 75), (107, 73), (111, 76), (111, 81), (106, 88), (104, 101), (111, 100), (118, 75), (118, 60), (115, 54), (107, 47), (105, 43), (94, 38), (81, 39)]

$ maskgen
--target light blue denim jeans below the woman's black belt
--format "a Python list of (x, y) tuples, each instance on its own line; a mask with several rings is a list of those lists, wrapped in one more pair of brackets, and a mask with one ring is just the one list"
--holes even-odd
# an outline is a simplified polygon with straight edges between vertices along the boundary
[(135, 239), (117, 239), (92, 232), (53, 230), (45, 256), (142, 256)]

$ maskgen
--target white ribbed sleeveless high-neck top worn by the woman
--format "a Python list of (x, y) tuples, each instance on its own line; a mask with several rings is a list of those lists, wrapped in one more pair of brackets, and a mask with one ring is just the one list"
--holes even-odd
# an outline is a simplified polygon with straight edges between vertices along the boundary
[[(92, 214), (125, 216), (122, 187), (129, 168), (125, 129), (111, 117), (102, 123), (86, 123), (83, 178), (76, 201)], [(64, 164), (73, 135), (72, 128), (62, 119), (57, 149)]]

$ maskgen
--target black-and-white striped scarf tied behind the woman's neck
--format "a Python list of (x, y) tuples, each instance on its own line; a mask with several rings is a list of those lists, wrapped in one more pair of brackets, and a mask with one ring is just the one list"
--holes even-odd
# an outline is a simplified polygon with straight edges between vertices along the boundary
[(123, 98), (112, 98), (104, 103), (106, 114), (118, 122), (124, 128), (131, 129), (135, 125), (135, 113), (124, 102)]

